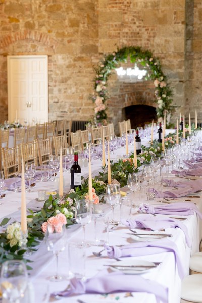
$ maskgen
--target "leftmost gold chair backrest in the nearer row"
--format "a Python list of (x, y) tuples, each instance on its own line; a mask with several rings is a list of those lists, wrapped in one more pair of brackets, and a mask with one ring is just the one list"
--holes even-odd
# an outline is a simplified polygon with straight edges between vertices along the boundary
[(2, 148), (2, 160), (4, 167), (4, 177), (8, 179), (15, 173), (21, 172), (21, 152), (20, 147)]

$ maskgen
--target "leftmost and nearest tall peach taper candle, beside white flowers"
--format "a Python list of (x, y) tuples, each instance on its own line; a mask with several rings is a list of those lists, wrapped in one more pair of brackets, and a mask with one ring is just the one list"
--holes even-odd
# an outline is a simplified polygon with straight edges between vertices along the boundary
[(24, 159), (22, 159), (22, 174), (21, 174), (21, 230), (24, 234), (27, 231)]

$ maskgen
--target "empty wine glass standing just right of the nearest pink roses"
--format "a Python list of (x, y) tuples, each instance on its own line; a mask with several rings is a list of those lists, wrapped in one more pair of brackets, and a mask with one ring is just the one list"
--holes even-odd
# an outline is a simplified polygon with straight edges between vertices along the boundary
[(76, 222), (80, 223), (83, 228), (83, 243), (85, 244), (85, 225), (92, 219), (92, 204), (88, 200), (76, 201), (75, 209)]

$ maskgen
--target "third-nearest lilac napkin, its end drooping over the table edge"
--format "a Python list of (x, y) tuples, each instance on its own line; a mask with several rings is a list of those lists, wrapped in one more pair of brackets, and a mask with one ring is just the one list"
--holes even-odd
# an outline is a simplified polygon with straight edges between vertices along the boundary
[(154, 217), (151, 215), (149, 217), (145, 218), (145, 215), (144, 215), (144, 217), (141, 216), (134, 220), (123, 219), (123, 220), (121, 220), (121, 222), (131, 229), (133, 229), (133, 228), (148, 229), (149, 228), (153, 231), (159, 230), (162, 228), (167, 229), (167, 228), (179, 227), (184, 232), (187, 246), (191, 247), (191, 241), (190, 241), (190, 238), (188, 235), (187, 227), (177, 219), (168, 218), (168, 217)]

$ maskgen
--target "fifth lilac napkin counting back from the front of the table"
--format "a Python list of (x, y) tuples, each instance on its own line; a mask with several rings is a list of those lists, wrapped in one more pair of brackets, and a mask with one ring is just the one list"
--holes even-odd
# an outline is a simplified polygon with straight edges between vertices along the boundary
[(190, 186), (181, 187), (179, 189), (173, 191), (160, 191), (154, 188), (150, 188), (149, 192), (153, 193), (156, 198), (180, 198), (192, 192), (192, 188)]

